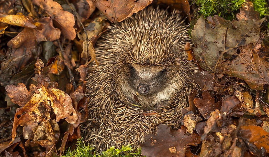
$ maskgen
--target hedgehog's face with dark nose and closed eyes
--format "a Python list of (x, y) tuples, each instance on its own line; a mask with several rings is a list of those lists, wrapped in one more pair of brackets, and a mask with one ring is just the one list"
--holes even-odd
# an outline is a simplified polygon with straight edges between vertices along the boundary
[(165, 89), (168, 81), (168, 71), (160, 66), (128, 65), (128, 82), (134, 91), (151, 96)]

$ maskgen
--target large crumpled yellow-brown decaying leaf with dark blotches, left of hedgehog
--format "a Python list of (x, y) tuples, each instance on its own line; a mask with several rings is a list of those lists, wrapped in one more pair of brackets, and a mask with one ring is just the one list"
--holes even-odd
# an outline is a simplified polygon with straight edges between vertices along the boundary
[[(42, 60), (38, 60), (35, 66), (36, 76), (34, 80), (38, 81), (37, 87), (31, 84), (30, 91), (28, 91), (23, 83), (18, 84), (17, 87), (14, 85), (6, 86), (6, 91), (12, 98), (12, 102), (22, 106), (14, 117), (12, 140), (16, 137), (17, 126), (22, 126), (25, 139), (50, 150), (58, 140), (56, 137), (59, 136), (55, 135), (57, 130), (59, 131), (56, 121), (59, 122), (60, 119), (66, 118), (68, 123), (73, 124), (76, 123), (78, 116), (69, 95), (53, 85), (49, 86), (49, 79), (43, 76), (41, 69), (44, 67)], [(25, 92), (24, 95), (23, 92)], [(50, 117), (51, 109), (56, 116), (56, 121)]]

